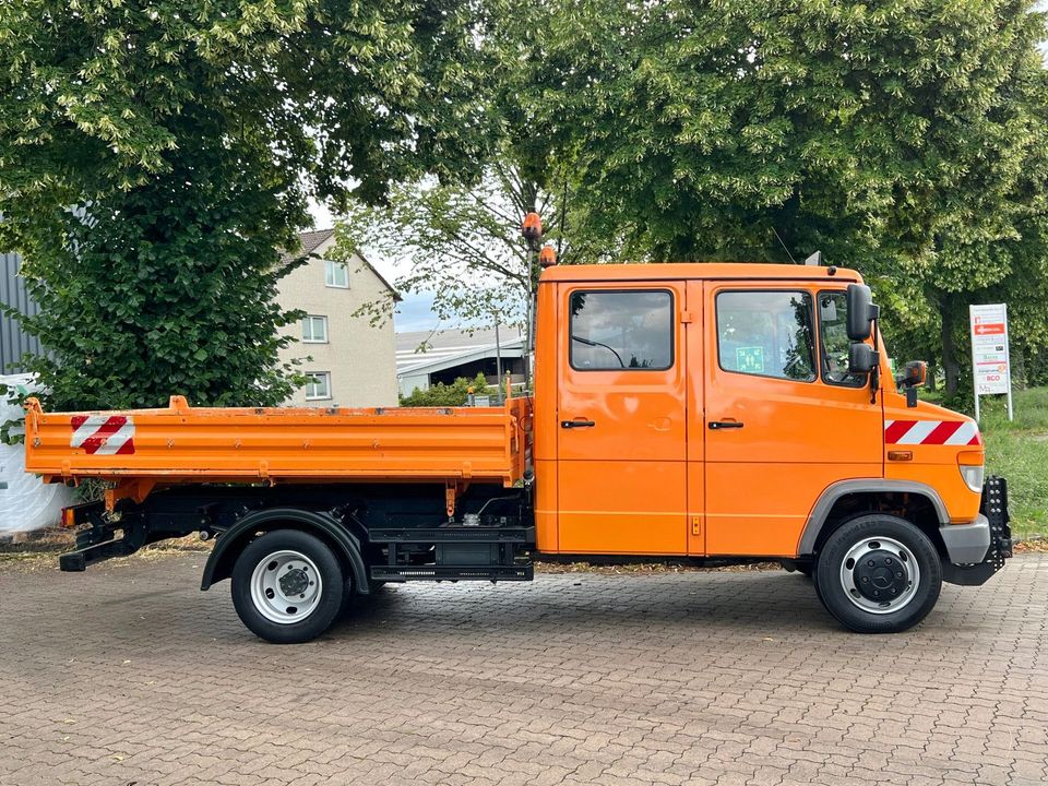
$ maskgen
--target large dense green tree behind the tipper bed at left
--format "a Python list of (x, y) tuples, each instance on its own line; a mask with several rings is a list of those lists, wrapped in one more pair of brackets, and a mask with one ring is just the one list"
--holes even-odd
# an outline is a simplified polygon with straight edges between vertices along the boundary
[(458, 0), (0, 4), (0, 245), (59, 407), (283, 401), (273, 305), (307, 196), (466, 168)]

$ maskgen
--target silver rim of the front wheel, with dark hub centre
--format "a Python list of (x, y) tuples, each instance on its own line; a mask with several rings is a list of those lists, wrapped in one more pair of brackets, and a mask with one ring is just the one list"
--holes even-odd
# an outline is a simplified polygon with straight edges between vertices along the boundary
[[(869, 565), (871, 561), (873, 565)], [(892, 575), (882, 579), (885, 571), (891, 571)], [(862, 575), (864, 572), (867, 574)], [(870, 575), (874, 572), (877, 575)], [(884, 586), (876, 586), (878, 581), (883, 581)], [(920, 568), (914, 552), (895, 538), (866, 537), (848, 549), (841, 560), (841, 586), (857, 608), (876, 615), (894, 614), (917, 596)], [(873, 593), (878, 596), (870, 597)]]

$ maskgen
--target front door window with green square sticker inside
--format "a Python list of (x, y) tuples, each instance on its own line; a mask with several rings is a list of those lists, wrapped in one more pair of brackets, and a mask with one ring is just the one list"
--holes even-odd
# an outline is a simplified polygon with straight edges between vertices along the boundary
[(725, 371), (813, 382), (813, 335), (809, 293), (717, 295), (717, 355)]

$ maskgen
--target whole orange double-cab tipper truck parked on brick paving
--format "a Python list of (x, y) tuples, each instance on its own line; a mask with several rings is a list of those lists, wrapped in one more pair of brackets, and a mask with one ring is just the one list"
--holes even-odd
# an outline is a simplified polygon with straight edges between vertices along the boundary
[(108, 481), (62, 570), (200, 533), (273, 642), (385, 582), (527, 581), (533, 560), (778, 561), (859, 632), (1011, 556), (970, 418), (893, 377), (858, 273), (771, 264), (544, 271), (534, 395), (499, 407), (45, 413), (26, 466)]

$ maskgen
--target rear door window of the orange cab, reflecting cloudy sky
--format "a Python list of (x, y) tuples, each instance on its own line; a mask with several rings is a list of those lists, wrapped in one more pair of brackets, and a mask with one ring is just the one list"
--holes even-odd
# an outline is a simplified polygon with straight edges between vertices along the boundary
[(571, 294), (571, 367), (664, 371), (674, 365), (674, 296), (664, 290)]

